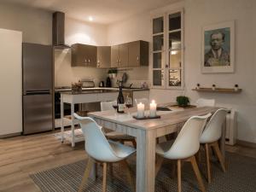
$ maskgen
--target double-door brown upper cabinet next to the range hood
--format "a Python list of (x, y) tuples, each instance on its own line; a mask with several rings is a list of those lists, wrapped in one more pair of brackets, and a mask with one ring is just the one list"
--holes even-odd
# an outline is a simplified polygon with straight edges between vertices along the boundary
[(88, 44), (72, 45), (72, 67), (96, 67), (97, 47)]

